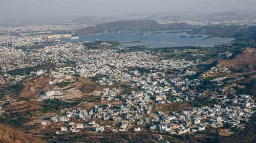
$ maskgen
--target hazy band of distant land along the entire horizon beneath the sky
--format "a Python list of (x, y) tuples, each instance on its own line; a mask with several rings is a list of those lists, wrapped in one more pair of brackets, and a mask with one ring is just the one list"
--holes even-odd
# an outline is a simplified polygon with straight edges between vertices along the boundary
[(167, 20), (181, 21), (194, 20), (221, 21), (256, 19), (256, 10), (231, 10), (228, 12), (205, 11), (167, 11), (157, 13), (129, 13), (112, 16), (82, 16), (82, 17), (27, 17), (20, 19), (0, 19), (0, 25), (26, 25), (26, 24), (89, 24), (120, 21), (120, 20)]

